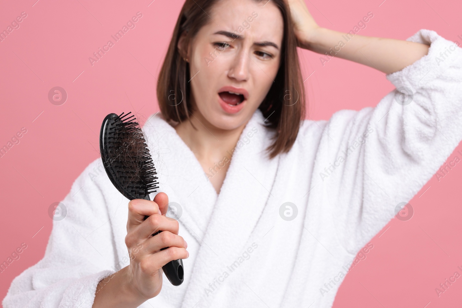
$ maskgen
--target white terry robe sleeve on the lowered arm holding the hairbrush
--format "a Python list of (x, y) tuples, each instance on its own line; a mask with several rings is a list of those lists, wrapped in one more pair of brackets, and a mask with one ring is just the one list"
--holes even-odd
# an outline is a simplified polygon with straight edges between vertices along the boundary
[(100, 159), (73, 183), (57, 213), (64, 218), (53, 221), (45, 256), (12, 281), (3, 307), (91, 308), (97, 284), (115, 272), (109, 267), (115, 248), (101, 187), (109, 180), (95, 172), (98, 167), (104, 172)]

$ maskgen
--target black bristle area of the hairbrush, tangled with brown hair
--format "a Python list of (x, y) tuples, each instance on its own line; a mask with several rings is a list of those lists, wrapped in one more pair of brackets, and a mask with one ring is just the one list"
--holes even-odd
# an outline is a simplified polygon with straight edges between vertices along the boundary
[(122, 113), (108, 127), (109, 156), (122, 188), (138, 198), (156, 192), (159, 184), (156, 168), (146, 139), (134, 115)]

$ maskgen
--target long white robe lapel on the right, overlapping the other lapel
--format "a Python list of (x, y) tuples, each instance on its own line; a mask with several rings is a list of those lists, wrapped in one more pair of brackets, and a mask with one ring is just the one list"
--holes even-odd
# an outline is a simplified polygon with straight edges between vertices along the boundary
[(247, 249), (247, 241), (267, 199), (272, 198), (270, 191), (279, 157), (267, 159), (265, 149), (271, 143), (271, 136), (263, 121), (257, 109), (240, 136), (203, 235), (182, 308), (212, 304), (210, 293), (214, 288), (209, 284), (223, 272), (229, 272), (227, 266)]

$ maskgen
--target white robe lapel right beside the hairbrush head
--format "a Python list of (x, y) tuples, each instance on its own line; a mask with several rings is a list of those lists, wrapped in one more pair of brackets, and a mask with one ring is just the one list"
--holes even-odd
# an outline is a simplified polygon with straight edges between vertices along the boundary
[[(158, 173), (157, 191), (166, 193), (169, 202), (178, 204), (179, 222), (201, 242), (217, 199), (215, 189), (175, 128), (157, 116), (143, 129)], [(155, 193), (151, 195), (154, 196)]]

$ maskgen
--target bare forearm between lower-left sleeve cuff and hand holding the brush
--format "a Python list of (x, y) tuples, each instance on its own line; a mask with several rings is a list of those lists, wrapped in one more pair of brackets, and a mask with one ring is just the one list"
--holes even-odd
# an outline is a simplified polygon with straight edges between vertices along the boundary
[(138, 307), (146, 301), (128, 281), (129, 267), (124, 267), (113, 275), (100, 281), (96, 288), (92, 308), (102, 307)]

